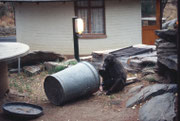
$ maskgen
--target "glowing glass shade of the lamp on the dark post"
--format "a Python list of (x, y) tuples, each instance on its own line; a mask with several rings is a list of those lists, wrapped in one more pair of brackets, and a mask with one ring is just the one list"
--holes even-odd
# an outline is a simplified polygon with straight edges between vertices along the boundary
[(84, 22), (81, 18), (77, 18), (75, 20), (75, 25), (76, 25), (76, 33), (82, 34), (84, 31)]

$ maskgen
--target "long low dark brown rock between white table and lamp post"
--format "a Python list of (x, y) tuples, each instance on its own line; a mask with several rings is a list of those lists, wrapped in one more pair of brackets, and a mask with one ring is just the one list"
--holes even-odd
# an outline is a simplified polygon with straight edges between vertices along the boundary
[[(47, 61), (63, 61), (65, 59), (64, 56), (61, 54), (57, 54), (54, 52), (46, 52), (46, 51), (34, 51), (29, 53), (26, 56), (21, 57), (21, 66), (30, 66), (30, 65), (36, 65), (41, 64)], [(18, 62), (14, 61), (9, 62), (8, 67), (9, 68), (17, 68)]]

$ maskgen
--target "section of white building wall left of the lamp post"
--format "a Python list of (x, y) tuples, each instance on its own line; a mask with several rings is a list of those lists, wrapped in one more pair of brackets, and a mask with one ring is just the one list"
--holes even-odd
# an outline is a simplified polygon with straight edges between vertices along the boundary
[(71, 54), (73, 6), (72, 2), (17, 3), (17, 41), (31, 50)]

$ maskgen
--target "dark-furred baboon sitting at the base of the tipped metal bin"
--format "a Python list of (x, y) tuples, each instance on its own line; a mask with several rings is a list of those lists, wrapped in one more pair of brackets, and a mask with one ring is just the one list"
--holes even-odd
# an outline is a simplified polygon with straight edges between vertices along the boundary
[(103, 78), (102, 87), (107, 95), (122, 90), (126, 85), (126, 71), (121, 62), (113, 55), (107, 55), (99, 74)]

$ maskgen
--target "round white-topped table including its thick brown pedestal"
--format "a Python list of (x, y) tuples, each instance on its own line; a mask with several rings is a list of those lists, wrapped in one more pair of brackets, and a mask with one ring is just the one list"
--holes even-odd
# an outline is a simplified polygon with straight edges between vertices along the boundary
[(29, 46), (18, 42), (0, 42), (0, 98), (9, 90), (7, 61), (22, 57)]

